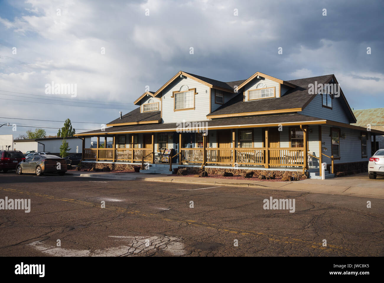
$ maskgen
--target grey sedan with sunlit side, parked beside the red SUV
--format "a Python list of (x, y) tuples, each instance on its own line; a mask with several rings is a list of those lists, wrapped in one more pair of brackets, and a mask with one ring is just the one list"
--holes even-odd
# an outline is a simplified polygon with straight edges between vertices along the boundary
[[(60, 163), (60, 166), (59, 164)], [(16, 173), (35, 173), (41, 176), (44, 173), (58, 173), (64, 175), (67, 171), (67, 163), (63, 158), (56, 155), (40, 155), (36, 154), (27, 157), (24, 161), (18, 163)]]

